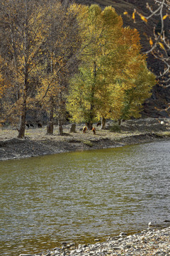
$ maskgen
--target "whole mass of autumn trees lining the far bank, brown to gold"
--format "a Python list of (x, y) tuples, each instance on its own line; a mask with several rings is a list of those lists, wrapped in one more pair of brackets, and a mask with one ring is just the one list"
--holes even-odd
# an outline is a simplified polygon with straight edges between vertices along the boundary
[[(100, 117), (138, 117), (154, 75), (140, 53), (137, 30), (123, 28), (111, 6), (55, 0), (0, 4), (1, 115), (25, 135), (28, 109), (42, 107), (47, 133), (67, 111), (89, 128)], [(67, 107), (66, 107), (67, 102)]]

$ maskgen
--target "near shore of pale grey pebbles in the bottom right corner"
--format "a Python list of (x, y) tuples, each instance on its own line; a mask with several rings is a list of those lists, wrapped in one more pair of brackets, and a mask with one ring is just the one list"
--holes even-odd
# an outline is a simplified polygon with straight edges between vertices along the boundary
[[(66, 245), (66, 244), (65, 244)], [(119, 237), (109, 237), (106, 242), (97, 242), (94, 245), (72, 244), (55, 249), (42, 256), (170, 256), (170, 227), (163, 230), (144, 230), (139, 234), (126, 235), (120, 233)], [(24, 255), (19, 256), (36, 256)]]

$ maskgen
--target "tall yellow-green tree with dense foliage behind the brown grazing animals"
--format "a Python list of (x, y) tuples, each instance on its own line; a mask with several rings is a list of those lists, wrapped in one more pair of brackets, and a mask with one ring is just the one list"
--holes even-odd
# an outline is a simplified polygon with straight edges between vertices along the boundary
[[(111, 7), (101, 11), (99, 6), (91, 5), (79, 15), (79, 21), (80, 26), (84, 26), (81, 66), (79, 74), (72, 78), (68, 109), (74, 121), (84, 121), (91, 129), (97, 118), (96, 109), (101, 106), (97, 94), (104, 92), (106, 86), (103, 81), (106, 80), (106, 68), (103, 65), (106, 55), (111, 60), (111, 55), (117, 54), (115, 44), (120, 39), (122, 20)], [(115, 48), (111, 50), (113, 46)]]

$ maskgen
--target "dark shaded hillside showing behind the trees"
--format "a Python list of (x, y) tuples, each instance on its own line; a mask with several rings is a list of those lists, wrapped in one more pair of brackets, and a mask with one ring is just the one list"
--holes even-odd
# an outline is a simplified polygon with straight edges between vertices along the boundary
[[(147, 14), (146, 8), (147, 2), (154, 6), (154, 0), (75, 0), (79, 4), (98, 4), (101, 7), (113, 6), (115, 11), (123, 18), (124, 26), (130, 26), (131, 28), (137, 28), (140, 32), (142, 52), (149, 48), (147, 37), (152, 36), (154, 26), (157, 26), (159, 20), (156, 18), (149, 20), (146, 24), (139, 17), (136, 19), (136, 23), (132, 19), (123, 14), (124, 11), (128, 11), (128, 14), (132, 14), (134, 9), (137, 9), (142, 14)], [(167, 24), (168, 26), (168, 24)], [(147, 36), (146, 36), (147, 35)], [(156, 75), (164, 69), (162, 63), (155, 59), (151, 54), (147, 56), (148, 68), (150, 68)], [(156, 85), (153, 89), (152, 97), (145, 102), (144, 111), (142, 117), (170, 117), (170, 110), (166, 110), (169, 107), (170, 102), (170, 87), (163, 88)]]

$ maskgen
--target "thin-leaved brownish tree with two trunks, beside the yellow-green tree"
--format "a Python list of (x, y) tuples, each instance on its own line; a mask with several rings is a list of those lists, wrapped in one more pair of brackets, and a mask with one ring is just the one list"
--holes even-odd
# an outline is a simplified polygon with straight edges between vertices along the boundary
[(42, 84), (37, 97), (49, 113), (47, 134), (53, 134), (55, 117), (62, 135), (62, 124), (66, 119), (68, 80), (77, 69), (77, 55), (81, 45), (76, 7), (76, 4), (62, 5), (60, 2), (50, 1), (50, 33), (45, 44)]

